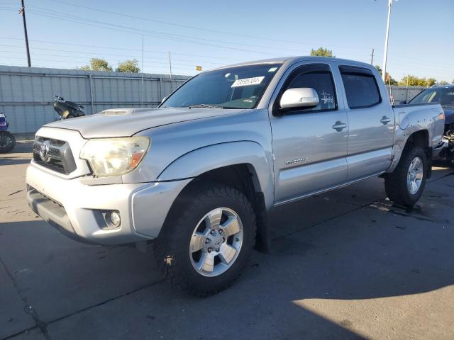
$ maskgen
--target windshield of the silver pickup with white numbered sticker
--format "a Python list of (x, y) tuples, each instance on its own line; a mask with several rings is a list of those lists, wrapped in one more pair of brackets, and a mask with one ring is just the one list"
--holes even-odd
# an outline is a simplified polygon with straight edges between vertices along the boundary
[(228, 67), (204, 72), (187, 81), (161, 108), (254, 108), (280, 63)]

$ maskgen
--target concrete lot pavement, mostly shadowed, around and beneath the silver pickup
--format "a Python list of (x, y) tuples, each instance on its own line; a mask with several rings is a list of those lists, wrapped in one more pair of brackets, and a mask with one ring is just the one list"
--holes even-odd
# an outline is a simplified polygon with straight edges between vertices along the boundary
[(25, 200), (30, 145), (0, 158), (0, 339), (454, 339), (454, 170), (404, 210), (370, 179), (272, 211), (272, 254), (184, 295), (152, 254), (67, 239)]

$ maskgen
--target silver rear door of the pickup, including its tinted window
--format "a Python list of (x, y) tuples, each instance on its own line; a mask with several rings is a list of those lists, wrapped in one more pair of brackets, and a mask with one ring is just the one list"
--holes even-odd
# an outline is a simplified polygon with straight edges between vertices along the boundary
[(339, 72), (350, 127), (347, 162), (351, 181), (378, 174), (391, 164), (394, 113), (388, 98), (380, 95), (372, 70), (340, 66)]

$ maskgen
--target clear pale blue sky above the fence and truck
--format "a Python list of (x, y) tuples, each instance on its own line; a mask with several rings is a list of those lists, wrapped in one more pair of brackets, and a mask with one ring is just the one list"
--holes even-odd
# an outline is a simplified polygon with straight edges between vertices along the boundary
[[(382, 67), (388, 0), (25, 0), (32, 66), (112, 67), (135, 58), (147, 73), (196, 74), (236, 62), (333, 55)], [(0, 0), (0, 64), (26, 66), (20, 0)], [(387, 72), (454, 81), (454, 0), (392, 5)], [(143, 47), (142, 47), (143, 46)], [(144, 52), (142, 52), (142, 49)], [(142, 58), (143, 56), (143, 58)]]

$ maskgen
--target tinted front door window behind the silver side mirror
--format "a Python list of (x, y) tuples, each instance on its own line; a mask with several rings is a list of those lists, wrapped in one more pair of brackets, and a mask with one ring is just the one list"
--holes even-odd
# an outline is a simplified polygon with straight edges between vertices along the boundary
[(311, 87), (319, 94), (319, 105), (308, 108), (307, 111), (332, 110), (336, 108), (336, 92), (330, 72), (311, 71), (298, 72), (291, 76), (289, 86), (286, 89), (297, 87)]

